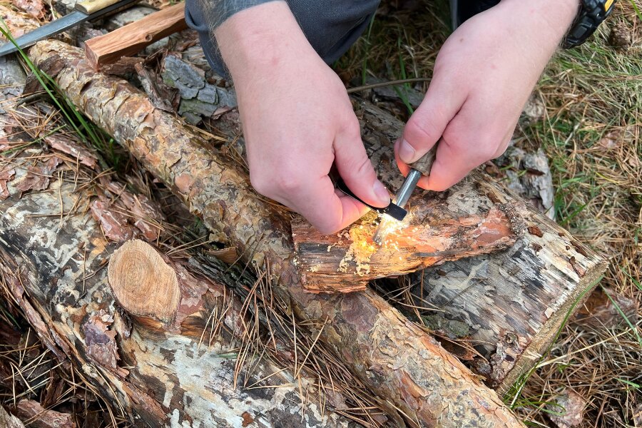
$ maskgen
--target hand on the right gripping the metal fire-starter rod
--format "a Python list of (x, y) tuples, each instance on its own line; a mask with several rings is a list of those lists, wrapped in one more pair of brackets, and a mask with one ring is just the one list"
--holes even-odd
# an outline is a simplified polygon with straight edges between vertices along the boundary
[(504, 153), (546, 63), (577, 13), (578, 0), (504, 0), (449, 37), (421, 106), (394, 151), (407, 175), (437, 141), (419, 186), (445, 190)]

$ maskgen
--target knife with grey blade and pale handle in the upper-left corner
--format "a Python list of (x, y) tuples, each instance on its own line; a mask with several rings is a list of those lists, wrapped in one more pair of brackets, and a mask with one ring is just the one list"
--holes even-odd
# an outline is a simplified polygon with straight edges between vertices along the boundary
[(18, 48), (16, 45), (18, 45), (20, 49), (24, 49), (36, 44), (38, 41), (60, 34), (85, 21), (96, 19), (99, 16), (118, 11), (119, 9), (126, 9), (126, 6), (131, 6), (131, 4), (136, 3), (136, 1), (138, 0), (88, 0), (77, 3), (75, 6), (76, 10), (71, 12), (71, 14), (66, 14), (61, 19), (51, 21), (49, 24), (45, 24), (34, 31), (20, 36), (15, 39), (16, 44), (8, 41), (0, 46), (0, 56), (5, 56), (6, 54), (17, 51)]

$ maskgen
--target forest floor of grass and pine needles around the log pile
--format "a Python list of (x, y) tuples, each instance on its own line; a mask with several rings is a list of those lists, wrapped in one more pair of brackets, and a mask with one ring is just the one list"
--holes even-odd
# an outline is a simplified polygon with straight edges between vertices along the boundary
[[(450, 33), (447, 3), (384, 1), (367, 33), (335, 64), (347, 87), (370, 78), (429, 78)], [(556, 221), (611, 260), (579, 315), (569, 317), (536, 370), (504, 397), (535, 427), (571, 426), (574, 418), (576, 427), (642, 427), (642, 15), (634, 6), (642, 9), (640, 0), (619, 1), (596, 36), (556, 54), (534, 91), (541, 111), (520, 121), (514, 134), (514, 146), (541, 149), (549, 159)], [(630, 46), (613, 46), (616, 27)], [(412, 100), (404, 88), (426, 87), (398, 87), (394, 112), (406, 119)], [(113, 141), (103, 143), (97, 148), (111, 168), (136, 170), (128, 156), (113, 152)], [(500, 179), (506, 168), (525, 172), (501, 166)], [(138, 181), (151, 183), (146, 176)], [(111, 410), (116, 404), (103, 402), (81, 372), (54, 364), (20, 315), (11, 302), (0, 302), (0, 358), (8, 370), (0, 370), (3, 402), (49, 400), (78, 426), (126, 426)]]

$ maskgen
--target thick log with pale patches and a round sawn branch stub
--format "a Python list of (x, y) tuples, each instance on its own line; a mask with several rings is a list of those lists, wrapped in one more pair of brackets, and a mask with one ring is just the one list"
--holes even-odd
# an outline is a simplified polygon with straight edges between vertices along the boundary
[[(55, 180), (46, 190), (21, 194), (19, 185), (28, 172), (20, 158), (16, 163), (7, 183), (9, 198), (0, 200), (0, 265), (9, 269), (2, 273), (10, 279), (13, 297), (29, 300), (44, 320), (41, 327), (55, 337), (46, 345), (56, 355), (64, 350), (106, 397), (133, 412), (132, 422), (150, 427), (348, 426), (339, 414), (321, 414), (318, 394), (305, 379), (299, 384), (291, 372), (267, 360), (253, 362), (253, 371), (240, 379), (245, 376), (253, 384), (269, 376), (269, 382), (236, 388), (233, 359), (245, 327), (240, 302), (223, 285), (170, 263), (148, 244), (131, 241), (126, 245), (143, 251), (127, 260), (132, 270), (111, 269), (118, 290), (113, 293), (106, 265), (127, 248), (119, 253), (84, 209), (91, 190), (77, 190), (73, 180)], [(61, 210), (71, 210), (62, 226)], [(225, 275), (223, 270), (219, 275)], [(132, 285), (152, 285), (152, 280), (144, 294), (140, 289), (138, 295), (123, 294), (123, 288), (131, 291)], [(164, 295), (172, 299), (163, 300)], [(220, 318), (218, 330), (239, 339), (213, 334), (213, 324), (208, 327), (213, 312)], [(199, 346), (203, 334), (213, 334), (213, 340)], [(274, 384), (277, 388), (270, 387)], [(305, 399), (309, 402), (302, 406)]]

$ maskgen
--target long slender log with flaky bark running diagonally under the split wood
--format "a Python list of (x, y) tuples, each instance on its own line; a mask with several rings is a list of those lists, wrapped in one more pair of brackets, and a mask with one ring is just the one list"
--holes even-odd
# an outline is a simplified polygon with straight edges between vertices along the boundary
[(56, 81), (83, 113), (183, 198), (218, 239), (238, 248), (246, 263), (269, 267), (275, 292), (290, 297), (312, 334), (389, 402), (391, 417), (424, 427), (522, 426), (457, 358), (374, 292), (305, 292), (285, 215), (251, 190), (245, 171), (174, 116), (125, 81), (95, 73), (71, 46), (45, 41), (29, 55), (41, 65), (56, 58)]

